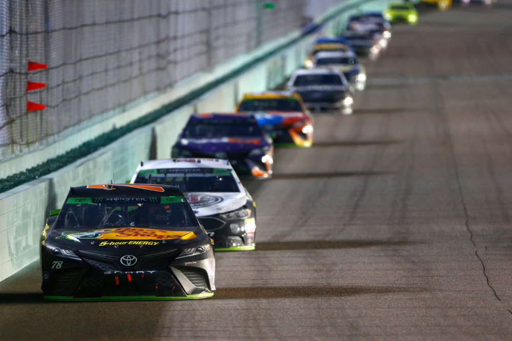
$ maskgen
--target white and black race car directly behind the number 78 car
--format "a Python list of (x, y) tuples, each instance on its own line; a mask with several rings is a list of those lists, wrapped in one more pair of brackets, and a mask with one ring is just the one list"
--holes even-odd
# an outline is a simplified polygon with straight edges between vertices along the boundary
[(137, 167), (131, 183), (179, 186), (214, 240), (215, 251), (254, 249), (256, 203), (227, 160), (144, 161)]

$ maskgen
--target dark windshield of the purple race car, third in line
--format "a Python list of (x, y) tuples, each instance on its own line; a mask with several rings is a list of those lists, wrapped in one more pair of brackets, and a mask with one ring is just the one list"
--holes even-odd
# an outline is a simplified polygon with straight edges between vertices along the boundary
[[(245, 122), (242, 122), (245, 121)], [(190, 122), (183, 130), (185, 139), (220, 139), (220, 138), (261, 138), (258, 123), (247, 120), (226, 122), (224, 120), (202, 120)]]

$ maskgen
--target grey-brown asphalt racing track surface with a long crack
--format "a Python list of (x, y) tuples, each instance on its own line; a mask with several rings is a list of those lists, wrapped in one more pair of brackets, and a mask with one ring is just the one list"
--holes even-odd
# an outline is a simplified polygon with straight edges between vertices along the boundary
[(354, 115), (250, 181), (257, 251), (215, 297), (46, 303), (0, 283), (0, 340), (512, 339), (512, 6), (426, 10), (367, 64)]

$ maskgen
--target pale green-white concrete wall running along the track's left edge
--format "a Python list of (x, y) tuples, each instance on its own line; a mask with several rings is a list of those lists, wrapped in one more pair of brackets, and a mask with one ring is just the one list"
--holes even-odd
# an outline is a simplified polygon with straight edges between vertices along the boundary
[[(336, 11), (339, 12), (340, 9), (348, 7), (343, 13), (330, 18), (322, 34), (333, 35), (342, 31), (346, 25), (346, 19), (360, 8), (382, 10), (387, 4), (388, 0), (371, 2), (358, 0), (343, 3), (325, 14), (325, 16), (332, 16)], [(287, 39), (291, 41), (298, 35), (298, 32), (294, 33)], [(70, 186), (104, 184), (110, 183), (111, 180), (115, 183), (124, 183), (132, 177), (140, 161), (169, 158), (172, 145), (176, 142), (178, 134), (190, 115), (198, 112), (230, 112), (245, 93), (261, 92), (280, 84), (297, 67), (302, 66), (314, 39), (314, 35), (305, 36), (292, 46), (254, 64), (238, 77), (210, 90), (199, 99), (169, 112), (157, 122), (125, 135), (109, 146), (59, 171), (1, 193), (0, 281), (38, 259), (39, 238), (46, 218), (50, 210), (60, 208)], [(211, 77), (209, 75), (209, 78)], [(196, 79), (195, 82), (197, 83), (198, 80)], [(187, 83), (182, 89), (172, 91), (186, 94), (186, 91), (190, 90), (191, 85)], [(164, 100), (165, 97), (158, 97), (140, 107), (121, 113), (117, 118), (109, 118), (107, 122), (99, 123), (100, 130), (125, 122), (128, 118), (140, 116), (141, 110), (147, 112), (151, 108), (156, 109), (164, 104)], [(86, 134), (93, 135), (92, 132)], [(79, 135), (79, 138), (82, 135), (84, 134)]]

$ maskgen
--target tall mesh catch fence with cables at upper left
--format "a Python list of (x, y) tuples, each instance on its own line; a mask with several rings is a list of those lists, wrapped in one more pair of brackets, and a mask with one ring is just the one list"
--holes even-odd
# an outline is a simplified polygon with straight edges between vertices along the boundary
[[(0, 160), (300, 27), (306, 0), (265, 3), (0, 0)], [(27, 81), (46, 87), (27, 93)]]

